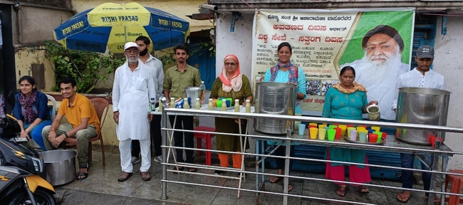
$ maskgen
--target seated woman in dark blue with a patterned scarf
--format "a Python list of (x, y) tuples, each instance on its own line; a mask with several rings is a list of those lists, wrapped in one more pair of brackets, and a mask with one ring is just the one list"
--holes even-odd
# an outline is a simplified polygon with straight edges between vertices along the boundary
[(21, 93), (16, 94), (16, 104), (14, 105), (14, 117), (18, 119), (21, 127), (21, 137), (33, 140), (43, 150), (42, 129), (46, 125), (51, 125), (51, 115), (48, 109), (48, 98), (36, 88), (36, 80), (31, 76), (25, 75), (19, 78), (19, 88)]

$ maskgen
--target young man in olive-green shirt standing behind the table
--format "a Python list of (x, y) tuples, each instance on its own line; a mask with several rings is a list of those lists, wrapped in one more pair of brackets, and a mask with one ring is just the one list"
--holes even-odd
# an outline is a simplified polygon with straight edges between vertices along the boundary
[[(167, 102), (170, 102), (170, 98), (174, 98), (175, 100), (187, 98), (185, 88), (198, 87), (201, 85), (201, 75), (199, 74), (199, 70), (187, 64), (187, 59), (189, 57), (188, 47), (184, 44), (177, 45), (174, 48), (174, 53), (177, 65), (168, 68), (165, 71), (164, 83), (162, 84), (162, 93), (164, 93)], [(177, 115), (175, 126), (173, 125), (174, 119), (175, 116), (169, 116), (170, 125), (175, 127), (175, 129), (193, 130), (193, 116)], [(174, 140), (175, 147), (183, 147), (183, 140), (185, 142), (184, 147), (194, 147), (193, 132), (174, 132)], [(176, 149), (177, 162), (193, 163), (193, 150), (185, 150), (187, 160), (183, 159), (183, 150), (184, 149)], [(183, 167), (177, 167), (176, 169), (181, 171), (183, 170)], [(196, 172), (196, 169), (189, 168), (188, 172)]]

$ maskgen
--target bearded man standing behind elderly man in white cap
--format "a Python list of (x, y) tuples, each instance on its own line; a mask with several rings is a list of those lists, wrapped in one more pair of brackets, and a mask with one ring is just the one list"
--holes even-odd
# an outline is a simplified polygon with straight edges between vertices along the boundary
[[(162, 94), (162, 82), (164, 81), (164, 71), (162, 70), (162, 62), (159, 61), (157, 58), (151, 56), (148, 53), (150, 49), (150, 38), (146, 36), (138, 36), (135, 39), (135, 43), (137, 43), (138, 47), (140, 47), (140, 60), (145, 65), (151, 68), (152, 76), (155, 83), (156, 89), (156, 107), (158, 106), (159, 98), (164, 97)], [(161, 115), (153, 115), (152, 120), (150, 122), (150, 135), (152, 144), (155, 146), (155, 162), (161, 163), (162, 162), (162, 138), (161, 138)], [(140, 162), (140, 141), (132, 140), (132, 164), (137, 164)]]

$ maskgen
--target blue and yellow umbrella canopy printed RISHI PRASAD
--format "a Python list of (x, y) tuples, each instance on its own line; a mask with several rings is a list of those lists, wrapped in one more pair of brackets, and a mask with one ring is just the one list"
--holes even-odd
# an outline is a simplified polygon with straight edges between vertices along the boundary
[(184, 43), (189, 23), (159, 9), (137, 3), (105, 3), (80, 12), (53, 30), (56, 41), (73, 50), (123, 53), (138, 36), (151, 39), (155, 50)]

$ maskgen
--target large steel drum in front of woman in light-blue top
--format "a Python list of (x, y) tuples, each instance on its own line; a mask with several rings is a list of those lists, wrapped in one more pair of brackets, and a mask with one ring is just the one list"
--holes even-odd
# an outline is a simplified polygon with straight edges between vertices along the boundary
[[(294, 115), (297, 86), (286, 83), (256, 83), (256, 113), (274, 115)], [(254, 119), (254, 129), (274, 135), (286, 134), (293, 130), (291, 120)]]

